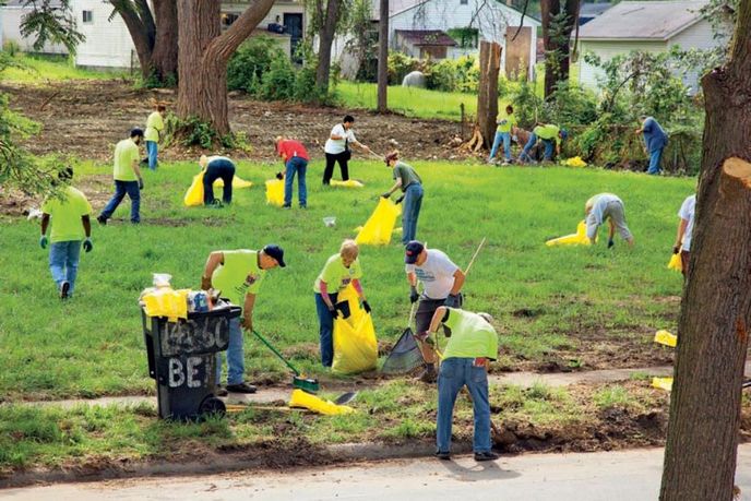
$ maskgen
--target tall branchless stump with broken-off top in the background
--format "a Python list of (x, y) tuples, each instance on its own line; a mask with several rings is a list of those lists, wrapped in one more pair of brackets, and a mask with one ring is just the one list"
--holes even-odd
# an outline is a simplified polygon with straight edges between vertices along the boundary
[(501, 69), (501, 46), (480, 41), (480, 82), (477, 94), (477, 123), (486, 147), (492, 146), (498, 117), (498, 73)]

